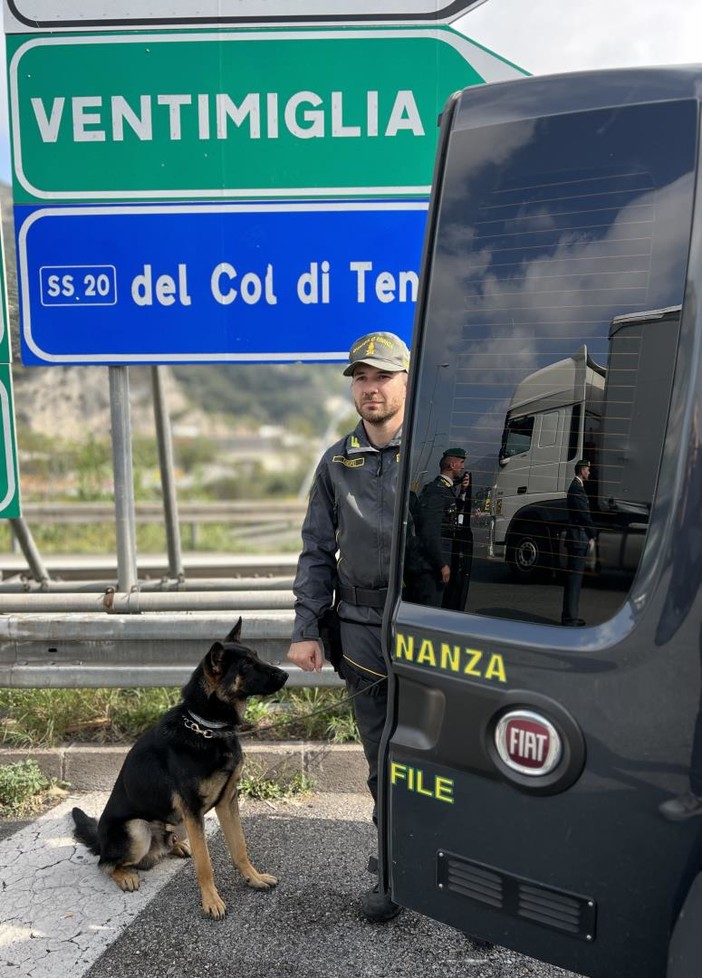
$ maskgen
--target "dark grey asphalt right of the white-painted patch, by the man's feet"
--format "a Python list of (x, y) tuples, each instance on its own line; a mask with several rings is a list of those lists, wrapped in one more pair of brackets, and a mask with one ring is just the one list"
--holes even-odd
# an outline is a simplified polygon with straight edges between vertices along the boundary
[(252, 862), (278, 875), (279, 886), (268, 893), (246, 887), (217, 833), (210, 849), (227, 917), (214, 922), (202, 915), (186, 866), (89, 978), (132, 972), (142, 978), (573, 978), (502, 948), (480, 951), (459, 931), (410, 911), (385, 925), (361, 920), (359, 896), (373, 881), (366, 869), (374, 830), (365, 795), (246, 801), (243, 814)]

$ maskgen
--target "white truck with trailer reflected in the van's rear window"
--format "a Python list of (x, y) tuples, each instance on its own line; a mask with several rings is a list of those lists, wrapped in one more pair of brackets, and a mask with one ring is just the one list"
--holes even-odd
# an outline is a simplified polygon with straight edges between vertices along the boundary
[(583, 346), (517, 386), (492, 490), (493, 553), (530, 580), (557, 567), (573, 466), (592, 466), (597, 566), (633, 572), (663, 447), (680, 306), (616, 316), (607, 365)]

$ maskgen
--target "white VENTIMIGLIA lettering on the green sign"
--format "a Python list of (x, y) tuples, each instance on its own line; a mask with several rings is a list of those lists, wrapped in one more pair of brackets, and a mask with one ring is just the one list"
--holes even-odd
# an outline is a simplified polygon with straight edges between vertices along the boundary
[(226, 92), (216, 94), (63, 95), (51, 100), (32, 98), (32, 111), (44, 143), (61, 137), (75, 143), (151, 142), (154, 138), (226, 140), (244, 134), (248, 139), (394, 138), (406, 132), (424, 136), (425, 128), (414, 93), (401, 89), (389, 111), (381, 111), (378, 92), (366, 92), (365, 105), (351, 113), (344, 108), (344, 93), (295, 92), (281, 99), (277, 92), (249, 92), (235, 101)]

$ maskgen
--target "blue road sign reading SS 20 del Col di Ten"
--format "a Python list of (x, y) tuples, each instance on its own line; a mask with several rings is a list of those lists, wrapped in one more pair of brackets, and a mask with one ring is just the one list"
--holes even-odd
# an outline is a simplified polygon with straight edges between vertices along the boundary
[(426, 210), (426, 201), (16, 207), (22, 360), (343, 360), (370, 329), (409, 341)]

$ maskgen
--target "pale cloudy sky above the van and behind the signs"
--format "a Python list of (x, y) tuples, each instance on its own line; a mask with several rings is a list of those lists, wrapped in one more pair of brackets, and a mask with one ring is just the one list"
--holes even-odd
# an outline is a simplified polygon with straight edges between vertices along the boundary
[[(454, 22), (535, 75), (645, 64), (702, 64), (699, 0), (485, 0)], [(0, 35), (4, 61), (4, 36)], [(4, 73), (0, 180), (10, 159)]]

